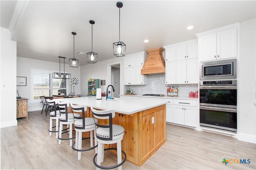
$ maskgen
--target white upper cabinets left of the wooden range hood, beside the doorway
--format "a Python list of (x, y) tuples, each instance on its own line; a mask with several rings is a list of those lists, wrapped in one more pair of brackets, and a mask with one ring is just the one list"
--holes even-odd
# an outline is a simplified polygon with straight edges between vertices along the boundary
[(146, 51), (124, 57), (124, 85), (148, 84), (148, 76), (142, 75), (140, 72), (146, 58)]

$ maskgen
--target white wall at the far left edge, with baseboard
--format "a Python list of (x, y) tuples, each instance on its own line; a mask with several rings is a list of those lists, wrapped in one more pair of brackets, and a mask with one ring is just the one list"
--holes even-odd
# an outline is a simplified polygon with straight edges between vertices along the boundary
[(0, 121), (1, 128), (17, 125), (16, 119), (16, 41), (8, 29), (1, 30)]

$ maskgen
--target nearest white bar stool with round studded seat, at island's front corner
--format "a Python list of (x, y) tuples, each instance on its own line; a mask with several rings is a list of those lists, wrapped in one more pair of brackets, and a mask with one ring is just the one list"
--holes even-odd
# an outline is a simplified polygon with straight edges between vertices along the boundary
[[(96, 127), (96, 138), (98, 141), (98, 153), (95, 154), (93, 158), (93, 163), (97, 167), (97, 170), (101, 169), (112, 169), (117, 168), (118, 170), (122, 170), (122, 164), (126, 160), (126, 153), (121, 148), (121, 141), (124, 137), (124, 127), (120, 125), (113, 125), (112, 118), (115, 117), (114, 110), (96, 110), (91, 107), (92, 114), (94, 119), (107, 119), (109, 124), (98, 124), (95, 122)], [(114, 144), (116, 143), (117, 148), (108, 148), (104, 149), (104, 144)], [(104, 150), (117, 150), (117, 165), (105, 167), (100, 166), (101, 162), (104, 160)], [(124, 154), (124, 160), (122, 161), (122, 153)], [(98, 154), (98, 156), (97, 156)], [(95, 162), (95, 158), (97, 156), (97, 163)]]

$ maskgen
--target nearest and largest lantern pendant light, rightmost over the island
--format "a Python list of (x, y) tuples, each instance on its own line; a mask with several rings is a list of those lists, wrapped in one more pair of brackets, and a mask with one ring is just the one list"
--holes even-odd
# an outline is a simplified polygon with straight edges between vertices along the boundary
[(126, 45), (120, 41), (120, 8), (123, 7), (122, 2), (117, 2), (116, 6), (119, 8), (119, 41), (116, 43), (113, 43), (113, 50), (114, 50), (114, 55), (116, 57), (122, 57), (125, 56), (125, 50), (126, 50)]

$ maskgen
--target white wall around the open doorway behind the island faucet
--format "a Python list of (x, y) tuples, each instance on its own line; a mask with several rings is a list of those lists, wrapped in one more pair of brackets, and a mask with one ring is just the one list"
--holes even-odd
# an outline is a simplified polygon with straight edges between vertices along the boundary
[[(115, 64), (118, 62), (124, 63), (124, 57), (116, 57), (114, 59), (99, 61), (95, 64), (86, 64), (84, 66), (81, 66), (82, 96), (86, 96), (88, 94), (89, 78), (106, 80), (106, 85), (104, 85), (104, 86), (100, 85), (102, 92), (106, 92), (107, 86), (109, 84), (111, 84), (111, 72), (108, 72), (108, 64)], [(120, 65), (120, 74), (124, 75), (123, 64)], [(121, 91), (122, 92), (123, 92), (123, 88), (124, 88), (123, 87), (124, 86), (123, 79), (124, 78), (121, 79)]]

